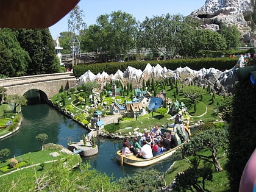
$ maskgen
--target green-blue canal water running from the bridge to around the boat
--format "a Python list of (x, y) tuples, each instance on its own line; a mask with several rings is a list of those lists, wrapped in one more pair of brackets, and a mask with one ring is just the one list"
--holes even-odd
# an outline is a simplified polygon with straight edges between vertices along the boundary
[[(0, 149), (8, 148), (11, 151), (9, 157), (17, 157), (27, 152), (38, 151), (40, 143), (35, 139), (39, 133), (46, 133), (48, 140), (45, 143), (62, 144), (67, 148), (68, 137), (71, 141), (82, 140), (82, 135), (88, 133), (77, 123), (74, 123), (66, 116), (57, 112), (47, 104), (27, 105), (22, 108), (23, 122), (20, 130), (10, 137), (0, 140)], [(157, 169), (166, 171), (171, 166), (171, 158), (156, 165), (146, 168), (134, 168), (132, 166), (120, 166), (116, 161), (116, 151), (122, 147), (123, 140), (109, 140), (99, 138), (97, 141), (99, 153), (93, 157), (83, 158), (84, 162), (89, 162), (92, 168), (105, 172), (115, 179), (124, 176), (132, 176), (135, 171), (147, 171)]]

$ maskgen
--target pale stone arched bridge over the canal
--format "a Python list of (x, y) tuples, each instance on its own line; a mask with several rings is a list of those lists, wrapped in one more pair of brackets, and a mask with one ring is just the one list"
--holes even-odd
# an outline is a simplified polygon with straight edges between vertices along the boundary
[(40, 94), (44, 101), (59, 93), (62, 86), (64, 90), (68, 90), (75, 85), (76, 77), (73, 72), (0, 79), (0, 87), (6, 88), (6, 94), (25, 95), (27, 98), (27, 93), (33, 90)]

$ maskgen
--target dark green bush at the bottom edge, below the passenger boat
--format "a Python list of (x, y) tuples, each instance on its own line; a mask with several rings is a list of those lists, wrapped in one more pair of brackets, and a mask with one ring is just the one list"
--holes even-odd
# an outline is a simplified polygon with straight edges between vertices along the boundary
[(138, 171), (133, 174), (132, 177), (124, 177), (116, 181), (123, 191), (160, 191), (163, 187), (164, 180), (162, 178), (162, 173), (151, 169), (148, 171)]

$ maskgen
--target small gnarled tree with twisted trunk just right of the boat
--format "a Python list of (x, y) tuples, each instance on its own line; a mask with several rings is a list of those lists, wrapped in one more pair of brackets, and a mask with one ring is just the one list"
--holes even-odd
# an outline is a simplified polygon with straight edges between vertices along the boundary
[[(219, 159), (223, 155), (219, 154), (219, 149), (227, 150), (229, 143), (227, 130), (224, 129), (207, 129), (202, 130), (191, 136), (190, 142), (186, 143), (182, 148), (177, 150), (177, 157), (184, 158), (190, 155), (199, 157), (201, 160), (210, 162), (215, 167), (216, 171), (222, 171)], [(207, 149), (210, 155), (202, 155), (199, 151)]]

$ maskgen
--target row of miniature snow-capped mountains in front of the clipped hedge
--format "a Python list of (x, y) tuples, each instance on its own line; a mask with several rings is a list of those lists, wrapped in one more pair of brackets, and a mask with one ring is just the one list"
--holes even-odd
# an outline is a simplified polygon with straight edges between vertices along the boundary
[(89, 70), (79, 77), (77, 86), (81, 86), (87, 82), (98, 82), (98, 84), (101, 85), (101, 88), (104, 88), (106, 82), (110, 83), (115, 80), (120, 80), (123, 85), (126, 85), (127, 82), (132, 82), (133, 88), (140, 88), (142, 87), (143, 79), (145, 81), (148, 79), (162, 80), (169, 77), (173, 80), (179, 80), (179, 82), (182, 82), (184, 85), (190, 85), (191, 82), (193, 82), (194, 85), (201, 87), (204, 85), (205, 87), (208, 87), (208, 85), (210, 85), (213, 91), (220, 95), (232, 94), (233, 87), (237, 81), (235, 66), (226, 71), (219, 71), (214, 68), (202, 68), (199, 71), (195, 71), (187, 66), (172, 71), (166, 67), (163, 68), (159, 64), (152, 66), (148, 63), (143, 71), (128, 66), (126, 71), (122, 72), (118, 69), (115, 74), (110, 75), (105, 72), (95, 75)]

